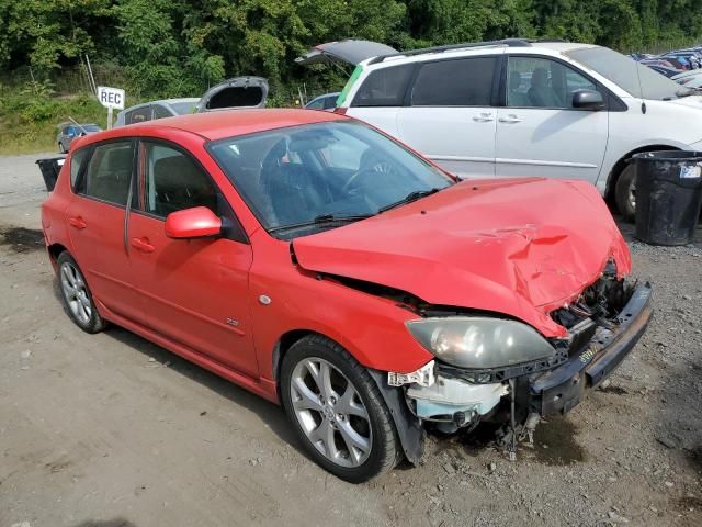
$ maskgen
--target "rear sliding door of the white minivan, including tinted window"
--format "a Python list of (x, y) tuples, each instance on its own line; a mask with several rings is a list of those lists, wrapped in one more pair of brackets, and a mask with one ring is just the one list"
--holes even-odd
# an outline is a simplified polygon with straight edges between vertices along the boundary
[(418, 64), (398, 137), (458, 177), (495, 176), (500, 55)]

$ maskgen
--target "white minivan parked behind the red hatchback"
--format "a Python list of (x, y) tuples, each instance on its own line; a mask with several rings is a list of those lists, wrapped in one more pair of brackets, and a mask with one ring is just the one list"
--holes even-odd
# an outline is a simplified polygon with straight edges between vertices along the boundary
[(506, 40), (362, 60), (337, 111), (461, 177), (584, 179), (631, 216), (633, 154), (702, 149), (694, 93), (607, 47)]

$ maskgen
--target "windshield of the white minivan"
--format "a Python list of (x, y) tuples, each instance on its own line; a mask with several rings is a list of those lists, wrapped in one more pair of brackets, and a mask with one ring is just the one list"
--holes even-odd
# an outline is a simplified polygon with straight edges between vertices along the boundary
[(633, 97), (663, 100), (680, 96), (681, 88), (677, 82), (608, 47), (574, 49), (566, 55)]

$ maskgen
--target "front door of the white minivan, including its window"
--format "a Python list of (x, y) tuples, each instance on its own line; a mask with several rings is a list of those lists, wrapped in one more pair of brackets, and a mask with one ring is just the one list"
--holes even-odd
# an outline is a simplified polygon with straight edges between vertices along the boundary
[[(497, 112), (498, 177), (597, 181), (609, 134), (607, 111), (573, 108), (573, 92), (600, 88), (546, 57), (508, 56), (506, 106)], [(604, 101), (607, 93), (602, 92)]]

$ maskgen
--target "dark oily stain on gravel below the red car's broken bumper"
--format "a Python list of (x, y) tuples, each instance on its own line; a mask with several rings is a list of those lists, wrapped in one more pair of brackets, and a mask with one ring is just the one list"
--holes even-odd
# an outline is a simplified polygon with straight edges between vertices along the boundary
[(541, 423), (534, 433), (536, 461), (550, 466), (566, 466), (587, 459), (585, 449), (576, 441), (578, 428), (564, 417)]

